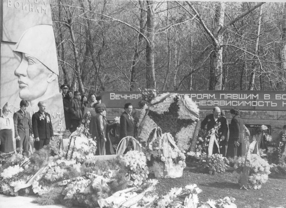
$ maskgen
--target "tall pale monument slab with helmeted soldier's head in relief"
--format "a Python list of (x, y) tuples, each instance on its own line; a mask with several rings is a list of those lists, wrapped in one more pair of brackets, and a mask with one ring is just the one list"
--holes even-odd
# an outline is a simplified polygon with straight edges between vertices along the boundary
[(65, 130), (49, 1), (4, 0), (1, 15), (0, 106), (8, 102), (17, 111), (28, 100), (32, 115), (44, 101), (54, 131)]

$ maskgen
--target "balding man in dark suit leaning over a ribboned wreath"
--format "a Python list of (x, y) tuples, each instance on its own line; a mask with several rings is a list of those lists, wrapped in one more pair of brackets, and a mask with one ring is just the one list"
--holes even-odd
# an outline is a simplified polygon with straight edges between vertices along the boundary
[[(221, 109), (219, 107), (215, 107), (212, 109), (212, 114), (209, 114), (206, 116), (206, 118), (201, 123), (201, 129), (206, 127), (206, 132), (214, 128), (216, 125), (219, 125), (218, 129), (218, 141), (220, 141), (219, 146), (220, 153), (225, 156), (226, 154), (226, 145), (228, 142), (227, 134), (229, 131), (228, 125), (227, 125), (227, 119), (221, 115)], [(218, 153), (217, 145), (214, 144), (213, 146), (213, 154)]]

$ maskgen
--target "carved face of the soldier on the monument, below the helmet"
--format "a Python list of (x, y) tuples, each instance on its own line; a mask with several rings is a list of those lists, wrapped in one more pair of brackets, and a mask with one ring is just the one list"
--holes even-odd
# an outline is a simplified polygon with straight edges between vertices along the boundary
[(36, 58), (22, 53), (21, 63), (15, 70), (20, 98), (30, 101), (42, 96), (47, 90), (50, 74), (51, 71)]

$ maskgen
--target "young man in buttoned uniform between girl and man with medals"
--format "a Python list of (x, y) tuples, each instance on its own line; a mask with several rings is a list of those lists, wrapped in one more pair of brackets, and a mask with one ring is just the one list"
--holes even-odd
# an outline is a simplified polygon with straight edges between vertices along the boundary
[(20, 110), (14, 113), (14, 128), (15, 128), (15, 138), (16, 138), (16, 148), (20, 148), (20, 152), (28, 155), (29, 151), (29, 140), (32, 140), (32, 125), (31, 116), (26, 108), (29, 106), (27, 100), (21, 100)]

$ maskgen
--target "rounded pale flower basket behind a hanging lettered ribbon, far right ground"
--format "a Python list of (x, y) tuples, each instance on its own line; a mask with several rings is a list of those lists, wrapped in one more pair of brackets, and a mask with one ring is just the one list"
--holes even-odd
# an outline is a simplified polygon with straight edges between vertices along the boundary
[[(245, 161), (245, 156), (234, 159), (234, 168), (237, 171), (242, 170), (245, 166), (242, 161)], [(270, 174), (270, 165), (262, 159), (258, 154), (251, 154), (250, 172), (247, 188), (260, 189), (261, 186), (268, 180)], [(239, 178), (239, 183), (241, 177)]]

